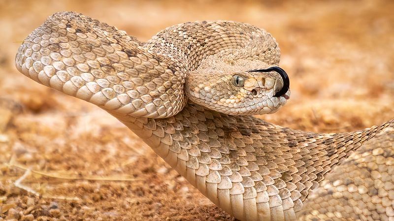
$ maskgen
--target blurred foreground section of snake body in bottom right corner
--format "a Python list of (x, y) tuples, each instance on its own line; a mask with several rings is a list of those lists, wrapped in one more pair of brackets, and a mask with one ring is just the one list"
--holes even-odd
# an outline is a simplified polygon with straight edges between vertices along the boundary
[(394, 220), (394, 123), (328, 173), (299, 220)]

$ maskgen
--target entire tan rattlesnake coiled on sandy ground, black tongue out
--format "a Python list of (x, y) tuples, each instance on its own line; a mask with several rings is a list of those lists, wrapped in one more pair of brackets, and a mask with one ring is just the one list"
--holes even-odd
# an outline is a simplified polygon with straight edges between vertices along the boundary
[(314, 134), (249, 116), (289, 98), (279, 56), (247, 24), (185, 23), (143, 44), (61, 12), (24, 40), (16, 67), (117, 117), (236, 219), (393, 220), (393, 121)]

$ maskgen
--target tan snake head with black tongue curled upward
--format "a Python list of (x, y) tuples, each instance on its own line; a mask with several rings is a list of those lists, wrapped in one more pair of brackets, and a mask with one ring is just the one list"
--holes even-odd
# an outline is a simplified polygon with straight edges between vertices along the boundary
[(207, 109), (231, 115), (267, 114), (290, 98), (289, 78), (277, 66), (248, 70), (245, 65), (211, 63), (200, 67), (187, 75), (186, 94)]

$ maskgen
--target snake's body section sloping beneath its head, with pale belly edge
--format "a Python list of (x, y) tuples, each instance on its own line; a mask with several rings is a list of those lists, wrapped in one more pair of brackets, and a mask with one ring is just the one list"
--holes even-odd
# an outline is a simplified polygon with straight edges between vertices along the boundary
[(244, 204), (250, 198), (257, 200), (252, 205), (271, 211), (269, 217), (295, 219), (325, 174), (389, 125), (352, 133), (315, 134), (250, 116), (209, 111), (196, 104), (187, 104), (180, 113), (165, 119), (115, 116), (237, 219), (249, 216), (238, 211), (233, 200), (227, 200), (239, 194)]

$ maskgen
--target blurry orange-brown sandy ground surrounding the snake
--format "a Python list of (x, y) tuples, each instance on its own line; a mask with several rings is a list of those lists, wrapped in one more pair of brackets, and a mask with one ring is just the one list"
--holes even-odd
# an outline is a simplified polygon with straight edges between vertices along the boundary
[(142, 41), (187, 21), (247, 22), (277, 39), (291, 79), (288, 104), (263, 119), (344, 132), (394, 117), (393, 1), (81, 2), (0, 1), (0, 221), (233, 220), (105, 111), (18, 73), (20, 43), (57, 11)]

